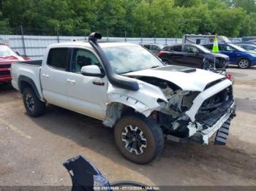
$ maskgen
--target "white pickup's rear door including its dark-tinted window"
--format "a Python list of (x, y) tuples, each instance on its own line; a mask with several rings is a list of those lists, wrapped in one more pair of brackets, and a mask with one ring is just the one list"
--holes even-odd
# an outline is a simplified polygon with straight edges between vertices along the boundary
[(67, 69), (70, 61), (69, 48), (52, 48), (40, 73), (42, 95), (50, 104), (68, 107)]

